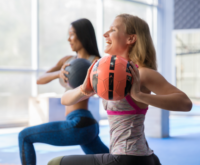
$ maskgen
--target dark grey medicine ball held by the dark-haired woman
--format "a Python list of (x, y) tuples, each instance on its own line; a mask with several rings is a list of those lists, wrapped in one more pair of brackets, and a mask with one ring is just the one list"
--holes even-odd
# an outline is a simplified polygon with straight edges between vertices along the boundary
[(87, 75), (87, 70), (91, 63), (83, 58), (77, 58), (70, 62), (70, 65), (65, 68), (69, 74), (65, 74), (68, 78), (69, 85), (72, 88), (76, 88), (83, 84)]

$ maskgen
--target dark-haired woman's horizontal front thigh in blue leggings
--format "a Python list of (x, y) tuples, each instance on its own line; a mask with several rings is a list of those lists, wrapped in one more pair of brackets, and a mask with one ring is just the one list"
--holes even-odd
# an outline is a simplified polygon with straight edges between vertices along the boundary
[(85, 144), (98, 135), (97, 125), (77, 128), (79, 121), (49, 122), (25, 128), (19, 134), (19, 139), (35, 143), (47, 143), (57, 146)]

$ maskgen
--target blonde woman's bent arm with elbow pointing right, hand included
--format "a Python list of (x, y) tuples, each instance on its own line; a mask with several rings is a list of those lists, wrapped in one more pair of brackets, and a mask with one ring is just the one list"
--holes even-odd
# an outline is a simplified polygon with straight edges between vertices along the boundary
[[(168, 83), (165, 78), (158, 72), (141, 68), (139, 71), (134, 66), (130, 68), (134, 83), (130, 95), (138, 102), (149, 104), (171, 111), (190, 111), (192, 102), (185, 93)], [(140, 84), (148, 88), (156, 95), (141, 92)]]

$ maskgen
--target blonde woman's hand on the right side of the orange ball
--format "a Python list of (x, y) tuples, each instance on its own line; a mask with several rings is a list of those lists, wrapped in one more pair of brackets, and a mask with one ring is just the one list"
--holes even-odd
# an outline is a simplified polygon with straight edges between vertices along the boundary
[(138, 94), (140, 93), (140, 74), (136, 65), (130, 61), (129, 69), (133, 76), (133, 84), (130, 90), (130, 96), (137, 101)]

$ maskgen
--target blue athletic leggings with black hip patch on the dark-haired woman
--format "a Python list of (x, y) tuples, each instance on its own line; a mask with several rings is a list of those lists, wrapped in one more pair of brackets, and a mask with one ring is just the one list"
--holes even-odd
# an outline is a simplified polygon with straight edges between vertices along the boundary
[(98, 136), (99, 125), (88, 110), (69, 113), (66, 121), (49, 122), (28, 127), (19, 133), (19, 150), (22, 165), (35, 165), (33, 143), (55, 146), (80, 145), (86, 154), (109, 153)]

